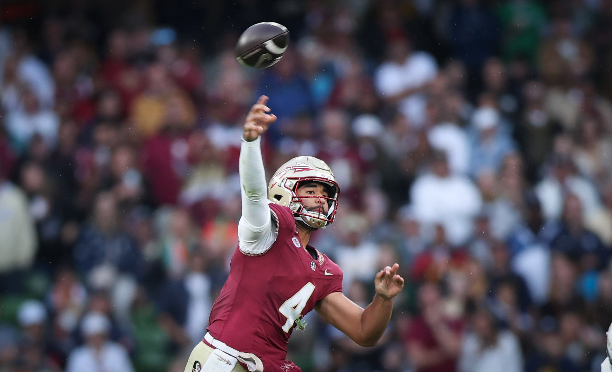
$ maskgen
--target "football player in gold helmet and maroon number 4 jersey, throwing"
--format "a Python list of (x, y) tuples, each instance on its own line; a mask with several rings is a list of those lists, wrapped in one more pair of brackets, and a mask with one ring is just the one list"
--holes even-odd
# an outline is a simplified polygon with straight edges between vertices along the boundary
[(389, 324), (403, 288), (398, 264), (376, 274), (376, 296), (365, 309), (342, 294), (342, 271), (308, 245), (334, 221), (340, 188), (326, 163), (300, 156), (283, 164), (266, 187), (260, 136), (276, 116), (262, 95), (244, 124), (239, 172), (242, 217), (230, 276), (214, 303), (206, 337), (185, 372), (298, 372), (285, 360), (294, 328), (315, 309), (362, 346), (373, 346)]

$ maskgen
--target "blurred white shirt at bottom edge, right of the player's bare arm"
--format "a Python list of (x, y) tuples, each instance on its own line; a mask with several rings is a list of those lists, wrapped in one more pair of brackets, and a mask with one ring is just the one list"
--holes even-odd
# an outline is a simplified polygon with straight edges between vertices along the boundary
[(476, 334), (463, 338), (458, 370), (460, 372), (522, 372), (523, 355), (518, 338), (509, 330), (500, 331), (497, 344), (482, 348)]

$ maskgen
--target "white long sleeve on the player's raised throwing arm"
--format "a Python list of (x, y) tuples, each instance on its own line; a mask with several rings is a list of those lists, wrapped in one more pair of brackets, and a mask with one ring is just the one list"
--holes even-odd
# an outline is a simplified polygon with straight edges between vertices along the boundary
[(242, 138), (238, 172), (242, 196), (238, 246), (248, 255), (261, 255), (272, 247), (278, 233), (276, 221), (271, 218), (272, 210), (267, 205), (266, 172), (259, 138), (251, 142)]

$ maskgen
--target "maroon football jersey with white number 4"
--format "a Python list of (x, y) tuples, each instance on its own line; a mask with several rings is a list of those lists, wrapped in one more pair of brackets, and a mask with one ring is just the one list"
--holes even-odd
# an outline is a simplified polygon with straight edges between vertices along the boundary
[(302, 247), (288, 207), (269, 206), (278, 237), (262, 255), (236, 249), (208, 331), (240, 352), (257, 355), (265, 372), (285, 372), (287, 365), (297, 372), (285, 360), (294, 321), (328, 294), (342, 291), (342, 270), (323, 253), (313, 259)]

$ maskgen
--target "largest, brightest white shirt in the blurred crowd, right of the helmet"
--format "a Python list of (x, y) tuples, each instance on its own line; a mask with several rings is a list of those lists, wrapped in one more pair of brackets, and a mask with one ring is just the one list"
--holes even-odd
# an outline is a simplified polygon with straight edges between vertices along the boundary
[(424, 225), (440, 224), (451, 244), (466, 242), (480, 212), (480, 191), (468, 177), (425, 174), (411, 188), (414, 217)]

